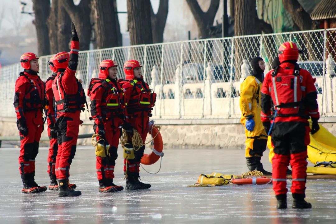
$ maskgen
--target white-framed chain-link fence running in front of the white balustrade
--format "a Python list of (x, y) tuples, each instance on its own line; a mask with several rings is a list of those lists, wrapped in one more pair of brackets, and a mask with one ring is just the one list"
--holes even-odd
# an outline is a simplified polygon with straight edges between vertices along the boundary
[[(336, 115), (335, 29), (81, 51), (76, 77), (87, 89), (91, 78), (98, 76), (101, 60), (115, 60), (119, 65), (118, 78), (123, 78), (124, 62), (136, 59), (142, 64), (145, 81), (158, 94), (154, 118), (239, 118), (239, 87), (252, 72), (251, 59), (264, 58), (266, 73), (271, 70), (278, 46), (285, 41), (297, 43), (305, 52), (298, 63), (316, 78), (321, 115)], [(42, 80), (49, 76), (49, 58), (50, 55), (40, 57)], [(0, 70), (2, 117), (15, 116), (14, 85), (21, 70), (19, 63)], [(90, 115), (86, 111), (81, 116)]]

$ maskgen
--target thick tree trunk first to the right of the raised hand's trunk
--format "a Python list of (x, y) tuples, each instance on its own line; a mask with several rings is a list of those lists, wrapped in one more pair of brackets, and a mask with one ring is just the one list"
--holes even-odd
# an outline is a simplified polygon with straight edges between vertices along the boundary
[(119, 46), (113, 3), (115, 1), (92, 0), (91, 2), (97, 49)]

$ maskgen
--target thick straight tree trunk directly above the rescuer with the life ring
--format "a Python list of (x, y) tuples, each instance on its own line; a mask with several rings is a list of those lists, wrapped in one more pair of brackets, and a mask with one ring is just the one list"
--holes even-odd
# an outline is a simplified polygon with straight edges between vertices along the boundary
[(131, 45), (152, 44), (151, 1), (127, 0), (127, 12)]

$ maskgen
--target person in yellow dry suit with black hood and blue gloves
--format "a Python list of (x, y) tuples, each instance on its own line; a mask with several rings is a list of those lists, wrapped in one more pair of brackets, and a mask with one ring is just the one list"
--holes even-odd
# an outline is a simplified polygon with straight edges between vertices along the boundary
[(239, 98), (242, 111), (240, 122), (245, 127), (246, 135), (245, 158), (250, 171), (257, 170), (270, 175), (272, 173), (265, 171), (260, 162), (267, 144), (267, 134), (260, 119), (260, 89), (264, 80), (265, 62), (261, 57), (254, 57), (251, 65), (253, 73), (240, 85)]

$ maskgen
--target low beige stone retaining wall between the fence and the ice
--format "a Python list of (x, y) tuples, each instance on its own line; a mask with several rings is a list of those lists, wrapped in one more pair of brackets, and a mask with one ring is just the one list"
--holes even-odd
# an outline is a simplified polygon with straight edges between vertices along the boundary
[[(320, 120), (336, 135), (336, 118)], [(156, 124), (162, 127), (161, 135), (166, 147), (245, 147), (244, 127), (239, 119), (157, 120)], [(87, 133), (93, 133), (92, 121), (89, 120), (79, 128), (79, 134)], [(18, 136), (15, 118), (0, 118), (0, 136)], [(47, 136), (46, 126), (42, 136)], [(78, 139), (78, 144), (91, 144), (91, 139)]]

